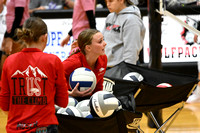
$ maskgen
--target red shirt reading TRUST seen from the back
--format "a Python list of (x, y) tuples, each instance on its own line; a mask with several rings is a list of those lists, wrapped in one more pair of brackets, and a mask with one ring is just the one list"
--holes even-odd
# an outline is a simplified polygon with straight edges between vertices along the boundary
[(0, 107), (8, 133), (58, 124), (54, 104), (66, 107), (68, 89), (61, 60), (36, 48), (10, 55), (3, 66)]

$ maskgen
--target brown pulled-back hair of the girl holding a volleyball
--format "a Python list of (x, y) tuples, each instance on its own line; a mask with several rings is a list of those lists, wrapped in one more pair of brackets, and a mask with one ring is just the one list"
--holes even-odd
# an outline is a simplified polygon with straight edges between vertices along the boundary
[(86, 29), (86, 30), (82, 31), (79, 34), (78, 40), (77, 40), (79, 50), (75, 51), (71, 55), (76, 54), (80, 51), (85, 55), (85, 46), (92, 44), (93, 35), (95, 35), (98, 32), (100, 32), (100, 31), (96, 30), (96, 29)]

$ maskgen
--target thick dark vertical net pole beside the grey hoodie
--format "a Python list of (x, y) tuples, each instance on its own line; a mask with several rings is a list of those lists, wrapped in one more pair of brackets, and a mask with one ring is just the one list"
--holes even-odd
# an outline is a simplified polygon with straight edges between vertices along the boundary
[(156, 9), (159, 9), (158, 0), (148, 0), (148, 17), (149, 17), (149, 67), (162, 69), (161, 63), (161, 22), (162, 18)]

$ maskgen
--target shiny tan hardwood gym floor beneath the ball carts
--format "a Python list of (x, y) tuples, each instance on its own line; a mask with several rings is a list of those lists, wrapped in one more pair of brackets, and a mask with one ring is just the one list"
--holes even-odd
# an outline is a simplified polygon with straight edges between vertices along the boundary
[[(163, 119), (166, 120), (181, 104), (163, 109)], [(6, 133), (7, 116), (0, 110), (0, 132)], [(154, 133), (156, 129), (147, 127), (147, 117), (143, 115), (140, 127), (145, 133)], [(200, 102), (185, 104), (167, 133), (200, 133)]]

